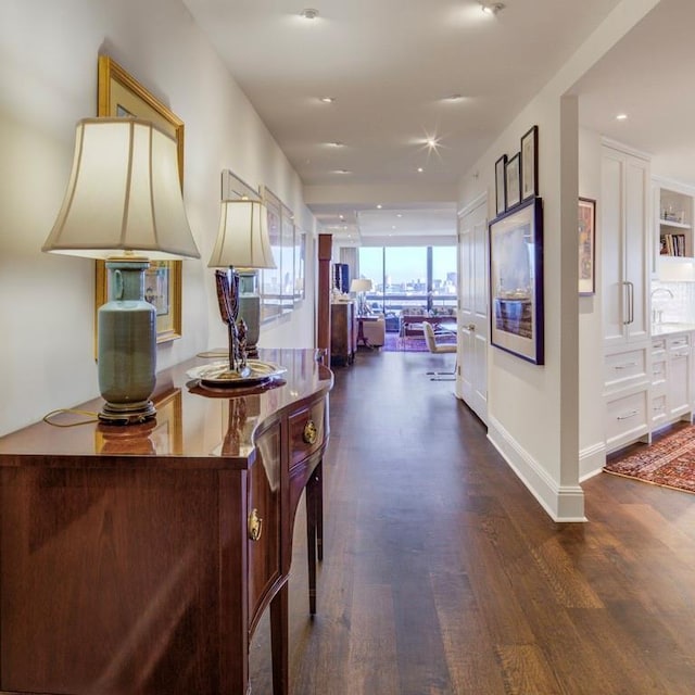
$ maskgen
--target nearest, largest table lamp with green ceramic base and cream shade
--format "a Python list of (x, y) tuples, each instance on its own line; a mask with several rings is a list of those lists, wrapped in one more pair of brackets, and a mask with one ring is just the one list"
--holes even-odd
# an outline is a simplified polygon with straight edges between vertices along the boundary
[(156, 309), (144, 300), (150, 260), (200, 258), (184, 208), (176, 142), (149, 121), (77, 124), (63, 205), (41, 251), (103, 258), (109, 301), (98, 312), (99, 419), (154, 416)]

